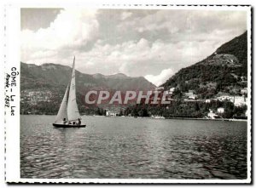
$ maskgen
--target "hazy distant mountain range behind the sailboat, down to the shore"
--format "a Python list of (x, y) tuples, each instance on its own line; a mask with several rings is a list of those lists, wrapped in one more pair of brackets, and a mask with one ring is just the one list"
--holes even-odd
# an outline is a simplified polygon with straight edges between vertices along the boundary
[[(56, 114), (70, 82), (72, 68), (55, 64), (36, 66), (20, 63), (20, 113)], [(122, 105), (88, 105), (84, 95), (90, 90), (143, 90), (154, 89), (144, 77), (128, 77), (125, 74), (84, 74), (76, 71), (77, 102), (82, 114), (101, 114), (103, 109), (119, 111)]]

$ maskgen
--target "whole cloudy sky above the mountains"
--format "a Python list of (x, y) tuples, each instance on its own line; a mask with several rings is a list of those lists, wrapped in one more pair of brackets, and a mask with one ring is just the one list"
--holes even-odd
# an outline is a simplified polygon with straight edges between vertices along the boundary
[(21, 9), (21, 61), (87, 74), (145, 77), (159, 86), (247, 30), (245, 11)]

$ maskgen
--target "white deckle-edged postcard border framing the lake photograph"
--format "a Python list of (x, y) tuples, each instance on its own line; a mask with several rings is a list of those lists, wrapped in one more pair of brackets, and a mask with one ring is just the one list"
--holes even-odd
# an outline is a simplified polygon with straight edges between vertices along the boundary
[[(81, 4), (75, 3), (73, 7), (78, 7)], [(146, 6), (146, 5), (109, 5), (109, 4), (97, 4), (89, 5), (82, 4), (91, 9), (211, 9), (211, 10), (244, 10), (247, 11), (247, 43), (248, 43), (248, 101), (252, 101), (251, 96), (251, 7), (247, 6)], [(4, 41), (6, 47), (4, 47), (4, 53), (6, 57), (4, 60), (5, 73), (10, 73), (12, 67), (16, 67), (17, 71), (20, 72), (20, 8), (31, 7), (31, 8), (65, 8), (70, 7), (70, 3), (20, 3), (20, 4), (6, 4), (5, 5), (5, 26), (6, 36)], [(198, 184), (198, 183), (220, 183), (220, 184), (243, 184), (251, 182), (251, 109), (252, 104), (248, 104), (248, 121), (247, 121), (247, 179), (20, 179), (20, 76), (16, 79), (18, 87), (13, 88), (12, 93), (15, 93), (15, 101), (12, 105), (15, 106), (15, 117), (10, 115), (10, 109), (5, 108), (5, 129), (6, 129), (6, 182), (23, 182), (23, 183), (183, 183), (183, 184)], [(5, 91), (9, 94), (9, 91)]]

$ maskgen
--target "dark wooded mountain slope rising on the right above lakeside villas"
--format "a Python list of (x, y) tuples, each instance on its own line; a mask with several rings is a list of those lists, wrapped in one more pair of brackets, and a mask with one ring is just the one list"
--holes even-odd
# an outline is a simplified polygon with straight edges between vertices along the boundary
[(247, 88), (247, 31), (224, 43), (205, 60), (177, 71), (162, 86), (182, 92), (194, 90), (201, 99), (240, 94), (241, 88)]

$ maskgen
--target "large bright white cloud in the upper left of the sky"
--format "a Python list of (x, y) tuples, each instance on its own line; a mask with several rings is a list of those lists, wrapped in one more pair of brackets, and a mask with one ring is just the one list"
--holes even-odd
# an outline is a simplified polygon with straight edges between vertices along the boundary
[[(21, 31), (21, 59), (28, 62), (52, 57), (56, 51), (85, 46), (97, 36), (94, 9), (64, 9), (48, 28)], [(42, 62), (43, 63), (43, 62)]]

